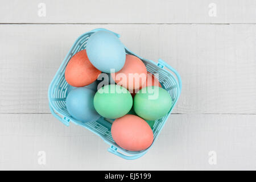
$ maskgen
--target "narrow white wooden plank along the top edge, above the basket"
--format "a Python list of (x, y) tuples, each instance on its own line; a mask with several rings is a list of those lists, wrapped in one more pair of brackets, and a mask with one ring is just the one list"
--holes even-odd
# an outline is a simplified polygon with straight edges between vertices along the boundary
[(254, 0), (11, 0), (2, 2), (0, 23), (256, 23), (255, 7)]

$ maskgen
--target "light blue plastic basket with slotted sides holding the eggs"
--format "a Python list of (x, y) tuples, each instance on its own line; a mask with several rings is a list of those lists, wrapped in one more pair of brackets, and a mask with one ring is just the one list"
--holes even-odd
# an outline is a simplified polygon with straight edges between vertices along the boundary
[[(177, 73), (174, 68), (172, 68), (170, 65), (165, 63), (163, 60), (159, 59), (158, 63), (155, 63), (152, 60), (143, 59), (141, 56), (136, 55), (135, 53), (129, 51), (126, 48), (126, 53), (135, 55), (144, 62), (148, 72), (153, 74), (154, 73), (159, 74), (158, 79), (160, 84), (164, 89), (168, 91), (168, 93), (170, 94), (174, 102), (172, 104), (172, 107), (169, 113), (166, 114), (163, 118), (155, 121), (154, 126), (152, 127), (152, 131), (154, 133), (154, 141), (149, 148), (143, 151), (127, 151), (119, 147), (112, 138), (111, 123), (107, 122), (103, 117), (101, 117), (97, 121), (88, 122), (88, 123), (82, 123), (80, 121), (77, 121), (76, 119), (72, 118), (72, 116), (68, 113), (67, 107), (65, 104), (65, 100), (67, 97), (67, 86), (68, 86), (64, 76), (65, 67), (67, 66), (68, 61), (71, 59), (71, 57), (75, 55), (75, 53), (86, 48), (86, 42), (89, 36), (99, 30), (109, 31), (104, 28), (97, 28), (95, 30), (86, 32), (76, 40), (72, 48), (69, 50), (67, 56), (65, 57), (63, 63), (60, 65), (60, 68), (58, 69), (55, 77), (53, 78), (51, 84), (49, 85), (49, 90), (48, 90), (49, 108), (51, 110), (51, 113), (61, 122), (63, 122), (64, 125), (69, 126), (69, 123), (72, 122), (72, 123), (75, 123), (76, 125), (83, 126), (86, 129), (100, 136), (106, 143), (110, 145), (110, 148), (108, 149), (109, 152), (112, 152), (113, 154), (118, 155), (124, 159), (137, 159), (142, 155), (144, 155), (152, 147), (152, 144), (155, 142), (160, 131), (163, 129), (164, 123), (166, 123), (167, 118), (171, 114), (171, 111), (174, 108), (180, 96), (181, 78), (179, 76), (179, 73)], [(118, 34), (114, 32), (113, 34), (117, 35), (119, 38)], [(176, 78), (171, 72), (169, 72), (167, 69), (164, 69), (164, 67), (170, 69), (170, 71), (172, 71), (172, 73), (175, 74)]]

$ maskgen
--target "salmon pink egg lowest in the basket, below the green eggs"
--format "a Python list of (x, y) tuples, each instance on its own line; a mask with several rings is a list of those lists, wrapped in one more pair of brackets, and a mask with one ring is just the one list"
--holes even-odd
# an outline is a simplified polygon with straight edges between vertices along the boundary
[(118, 146), (130, 151), (141, 151), (151, 146), (154, 135), (150, 126), (137, 115), (126, 114), (115, 119), (111, 134)]

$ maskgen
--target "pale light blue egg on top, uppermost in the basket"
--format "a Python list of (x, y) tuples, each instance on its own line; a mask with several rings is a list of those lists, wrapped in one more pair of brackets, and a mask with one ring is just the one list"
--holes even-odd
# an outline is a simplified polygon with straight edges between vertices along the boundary
[(92, 34), (86, 43), (86, 53), (90, 63), (105, 73), (110, 73), (110, 69), (118, 72), (125, 64), (125, 47), (112, 32)]

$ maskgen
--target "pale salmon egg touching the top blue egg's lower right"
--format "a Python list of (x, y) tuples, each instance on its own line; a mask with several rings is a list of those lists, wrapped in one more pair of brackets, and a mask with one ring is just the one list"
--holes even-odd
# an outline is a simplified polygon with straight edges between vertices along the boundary
[(141, 59), (126, 55), (125, 65), (116, 73), (111, 73), (114, 81), (128, 90), (139, 89), (146, 82), (147, 69)]

